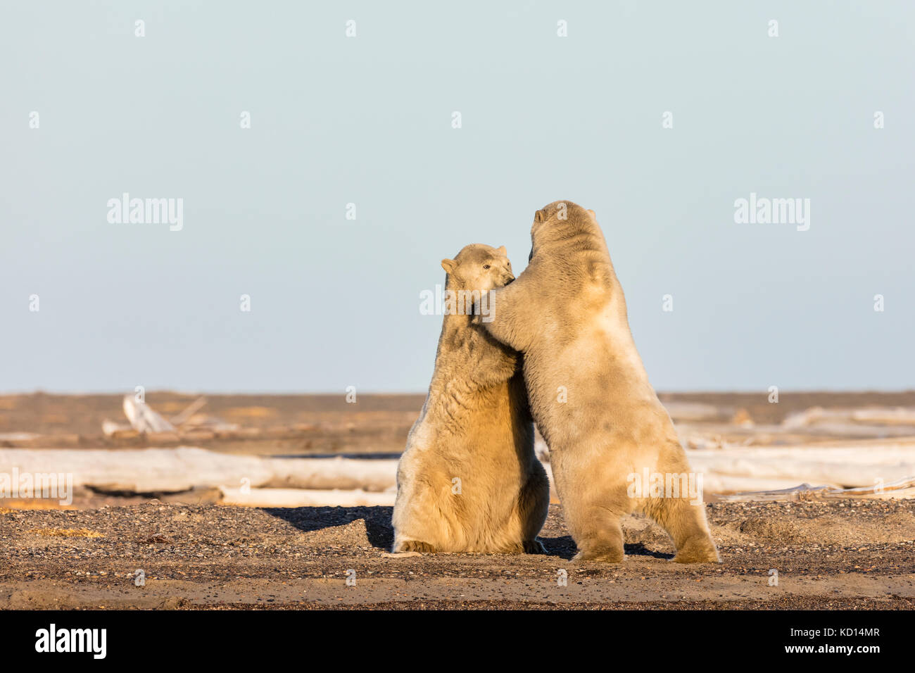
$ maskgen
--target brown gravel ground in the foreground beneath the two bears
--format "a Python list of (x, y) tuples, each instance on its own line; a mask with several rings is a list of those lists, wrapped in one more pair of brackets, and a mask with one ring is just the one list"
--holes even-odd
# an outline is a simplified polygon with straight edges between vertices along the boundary
[(397, 558), (390, 507), (6, 509), (0, 608), (915, 608), (915, 501), (706, 506), (720, 565), (636, 517), (623, 563), (572, 562), (559, 505), (545, 556)]

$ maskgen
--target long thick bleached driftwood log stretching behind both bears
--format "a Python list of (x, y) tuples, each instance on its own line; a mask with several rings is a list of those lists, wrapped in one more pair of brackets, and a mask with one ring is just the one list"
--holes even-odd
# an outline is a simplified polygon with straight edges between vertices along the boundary
[[(915, 440), (833, 447), (688, 450), (706, 493), (774, 491), (798, 483), (873, 487), (915, 474)], [(395, 459), (271, 458), (192, 447), (135, 450), (0, 449), (0, 473), (65, 472), (76, 486), (133, 493), (228, 486), (382, 492), (396, 483)], [(549, 472), (549, 471), (548, 471)], [(242, 482), (242, 480), (245, 480)]]

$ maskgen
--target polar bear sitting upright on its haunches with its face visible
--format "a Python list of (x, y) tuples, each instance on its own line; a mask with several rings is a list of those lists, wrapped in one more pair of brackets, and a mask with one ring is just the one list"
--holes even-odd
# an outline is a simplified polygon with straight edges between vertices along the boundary
[(446, 316), (397, 466), (393, 551), (543, 553), (550, 487), (520, 356), (472, 322), (473, 302), (485, 311), (485, 293), (514, 279), (511, 264), (504, 247), (473, 244), (442, 266)]

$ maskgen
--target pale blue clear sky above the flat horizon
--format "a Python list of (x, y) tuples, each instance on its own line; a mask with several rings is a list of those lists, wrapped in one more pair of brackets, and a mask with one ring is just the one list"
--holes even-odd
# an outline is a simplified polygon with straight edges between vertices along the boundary
[(425, 391), (439, 260), (559, 199), (659, 390), (913, 386), (915, 4), (5, 2), (0, 63), (0, 390)]

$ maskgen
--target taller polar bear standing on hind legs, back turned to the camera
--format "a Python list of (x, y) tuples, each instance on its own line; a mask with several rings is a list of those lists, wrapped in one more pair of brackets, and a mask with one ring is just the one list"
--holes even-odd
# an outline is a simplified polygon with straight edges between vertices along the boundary
[[(674, 560), (717, 562), (705, 506), (683, 492), (689, 463), (632, 341), (595, 213), (555, 201), (536, 212), (531, 241), (530, 264), (490, 292), (482, 324), (523, 353), (576, 559), (621, 561), (620, 517), (638, 511), (673, 538)], [(642, 474), (673, 489), (630, 488)]]

